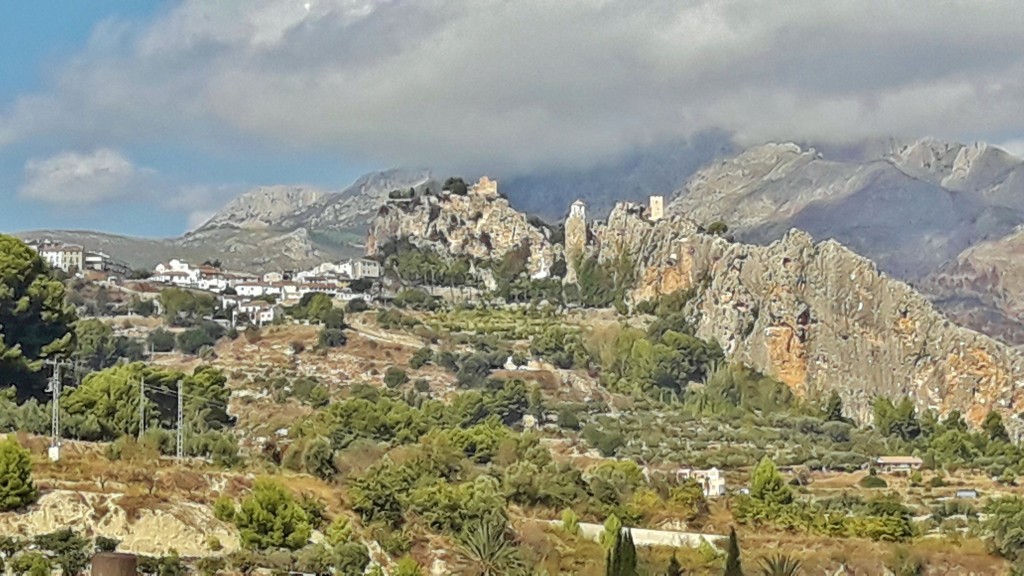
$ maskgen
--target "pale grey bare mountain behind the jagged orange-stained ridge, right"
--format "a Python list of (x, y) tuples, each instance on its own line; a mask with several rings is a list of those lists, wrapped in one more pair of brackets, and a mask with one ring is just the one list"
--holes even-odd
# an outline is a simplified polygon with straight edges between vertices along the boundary
[[(951, 317), (1024, 342), (1017, 303), (984, 280), (966, 280), (980, 276), (965, 264), (980, 264), (979, 251), (1007, 260), (1014, 242), (1000, 239), (1024, 222), (1024, 161), (997, 148), (923, 139), (844, 162), (795, 143), (768, 143), (697, 172), (668, 211), (703, 224), (723, 220), (735, 238), (757, 244), (793, 228), (838, 240), (920, 285)], [(1009, 285), (998, 289), (1021, 286), (1011, 277), (1002, 282)], [(965, 310), (964, 301), (984, 310)]]

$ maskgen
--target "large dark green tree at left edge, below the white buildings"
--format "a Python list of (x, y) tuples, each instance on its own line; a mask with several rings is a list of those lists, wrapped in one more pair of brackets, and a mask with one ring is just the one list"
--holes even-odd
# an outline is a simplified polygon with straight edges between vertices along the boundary
[(24, 242), (0, 235), (0, 387), (41, 394), (42, 360), (71, 352), (74, 322), (63, 284)]

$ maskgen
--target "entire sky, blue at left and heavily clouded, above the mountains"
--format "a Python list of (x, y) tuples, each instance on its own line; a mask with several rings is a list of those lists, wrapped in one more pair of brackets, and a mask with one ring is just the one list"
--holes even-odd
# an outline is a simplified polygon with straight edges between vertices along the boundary
[(528, 174), (716, 129), (1024, 155), (1019, 0), (0, 1), (0, 231), (257, 186)]

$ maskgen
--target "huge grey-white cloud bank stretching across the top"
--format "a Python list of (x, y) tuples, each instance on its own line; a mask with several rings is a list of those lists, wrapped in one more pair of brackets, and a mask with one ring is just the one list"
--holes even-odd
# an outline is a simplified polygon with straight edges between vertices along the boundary
[(709, 128), (978, 139), (1024, 133), (1022, 29), (1010, 0), (189, 0), (97, 28), (0, 113), (0, 146), (255, 138), (486, 169)]

